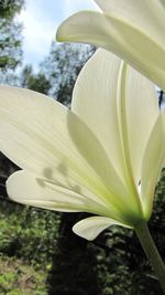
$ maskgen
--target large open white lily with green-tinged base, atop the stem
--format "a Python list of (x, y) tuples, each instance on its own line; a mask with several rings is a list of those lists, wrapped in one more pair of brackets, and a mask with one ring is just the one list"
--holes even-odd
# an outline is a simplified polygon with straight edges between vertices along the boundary
[(0, 148), (22, 169), (7, 181), (11, 199), (91, 212), (74, 231), (92, 240), (111, 224), (135, 228), (150, 219), (165, 158), (165, 112), (148, 80), (98, 50), (79, 74), (72, 110), (1, 86)]

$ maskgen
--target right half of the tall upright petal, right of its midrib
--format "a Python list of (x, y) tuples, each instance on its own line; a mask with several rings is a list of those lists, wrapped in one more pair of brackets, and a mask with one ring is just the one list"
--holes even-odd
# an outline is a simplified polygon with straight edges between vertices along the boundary
[(158, 99), (154, 85), (130, 66), (127, 70), (124, 96), (121, 97), (120, 114), (122, 117), (125, 108), (125, 120), (121, 123), (128, 133), (129, 155), (138, 185), (144, 149), (160, 115)]

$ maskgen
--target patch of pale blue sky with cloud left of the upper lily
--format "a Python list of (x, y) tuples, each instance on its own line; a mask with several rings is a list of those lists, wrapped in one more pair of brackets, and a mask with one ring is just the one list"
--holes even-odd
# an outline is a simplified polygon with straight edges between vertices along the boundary
[(82, 9), (96, 10), (97, 6), (92, 0), (25, 0), (25, 9), (19, 15), (24, 28), (24, 63), (31, 63), (36, 69), (48, 53), (57, 27)]

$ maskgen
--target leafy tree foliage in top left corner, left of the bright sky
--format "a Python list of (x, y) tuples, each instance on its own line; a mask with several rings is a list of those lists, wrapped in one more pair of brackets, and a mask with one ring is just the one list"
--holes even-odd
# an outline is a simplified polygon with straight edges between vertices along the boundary
[(15, 20), (24, 0), (0, 0), (0, 70), (15, 70), (21, 63), (21, 24)]

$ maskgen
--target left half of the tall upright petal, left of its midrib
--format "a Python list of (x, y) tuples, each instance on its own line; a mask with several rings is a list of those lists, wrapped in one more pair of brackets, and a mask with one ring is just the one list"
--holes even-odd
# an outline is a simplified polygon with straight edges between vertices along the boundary
[(118, 173), (124, 183), (117, 109), (120, 66), (121, 60), (105, 50), (98, 50), (76, 81), (72, 110), (82, 122), (88, 123), (109, 156), (112, 165), (111, 175)]

